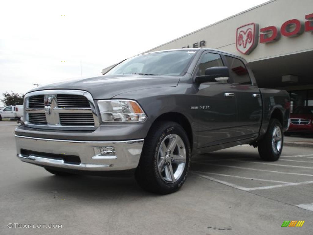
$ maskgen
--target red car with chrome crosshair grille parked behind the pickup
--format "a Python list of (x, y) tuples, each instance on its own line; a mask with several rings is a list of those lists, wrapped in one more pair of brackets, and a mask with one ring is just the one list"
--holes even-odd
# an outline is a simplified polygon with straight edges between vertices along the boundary
[(313, 106), (298, 107), (290, 114), (290, 133), (310, 133), (313, 134)]

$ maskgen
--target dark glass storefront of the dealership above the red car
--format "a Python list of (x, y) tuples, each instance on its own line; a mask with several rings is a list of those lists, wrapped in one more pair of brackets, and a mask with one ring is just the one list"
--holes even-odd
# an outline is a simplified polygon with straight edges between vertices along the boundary
[(300, 106), (313, 106), (313, 90), (288, 92), (291, 98), (291, 112)]

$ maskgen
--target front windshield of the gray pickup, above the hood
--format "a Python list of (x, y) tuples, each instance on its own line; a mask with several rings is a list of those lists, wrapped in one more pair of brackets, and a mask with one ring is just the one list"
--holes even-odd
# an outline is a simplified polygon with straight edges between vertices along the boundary
[(187, 68), (195, 50), (177, 50), (138, 55), (116, 65), (106, 75), (140, 74), (179, 76)]

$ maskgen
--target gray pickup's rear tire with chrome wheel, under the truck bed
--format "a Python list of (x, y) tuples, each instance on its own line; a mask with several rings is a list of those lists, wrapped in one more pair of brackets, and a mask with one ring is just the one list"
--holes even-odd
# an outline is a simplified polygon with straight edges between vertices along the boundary
[(258, 150), (262, 160), (277, 161), (283, 149), (284, 135), (281, 123), (273, 118), (264, 138), (259, 141)]

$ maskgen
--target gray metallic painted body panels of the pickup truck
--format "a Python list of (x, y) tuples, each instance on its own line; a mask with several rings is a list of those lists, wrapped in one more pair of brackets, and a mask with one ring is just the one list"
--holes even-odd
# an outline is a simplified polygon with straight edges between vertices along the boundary
[[(69, 140), (141, 139), (146, 137), (156, 118), (164, 113), (176, 112), (184, 115), (189, 121), (192, 127), (193, 146), (195, 146), (193, 152), (200, 153), (252, 143), (262, 138), (274, 109), (282, 112), (283, 126), (286, 130), (289, 110), (284, 107), (286, 102), (290, 102), (288, 93), (259, 89), (249, 68), (252, 85), (194, 83), (195, 67), (201, 55), (210, 51), (221, 53), (222, 57), (230, 55), (217, 50), (198, 49), (183, 76), (110, 75), (34, 89), (78, 89), (90, 92), (95, 100), (110, 98), (136, 100), (148, 116), (144, 123), (102, 123), (95, 131), (42, 131), (21, 125), (15, 133), (31, 137)], [(245, 62), (240, 57), (234, 57)], [(223, 61), (225, 63), (224, 59)], [(223, 96), (224, 92), (235, 92), (236, 96), (226, 98)], [(261, 97), (252, 97), (254, 93), (261, 93)], [(275, 105), (273, 105), (273, 99)], [(211, 106), (211, 109), (191, 109), (192, 106), (200, 105)]]

